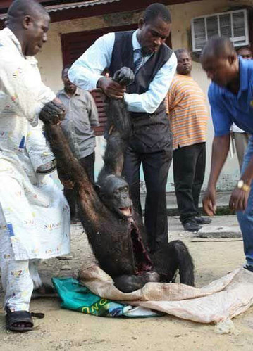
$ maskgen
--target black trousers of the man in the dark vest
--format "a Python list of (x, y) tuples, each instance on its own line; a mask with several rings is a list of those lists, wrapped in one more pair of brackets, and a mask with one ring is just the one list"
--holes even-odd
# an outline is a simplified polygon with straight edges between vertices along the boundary
[(172, 152), (166, 150), (138, 153), (130, 146), (125, 153), (123, 175), (130, 186), (134, 208), (140, 215), (142, 215), (140, 203), (140, 165), (142, 163), (147, 188), (144, 224), (147, 245), (151, 252), (168, 243), (166, 183), (171, 159)]

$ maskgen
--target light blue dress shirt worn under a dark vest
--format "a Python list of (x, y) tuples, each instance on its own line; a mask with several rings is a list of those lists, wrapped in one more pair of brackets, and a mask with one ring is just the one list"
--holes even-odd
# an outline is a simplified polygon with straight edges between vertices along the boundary
[[(135, 49), (140, 49), (137, 40), (136, 30), (132, 35), (132, 48), (134, 50), (134, 61), (137, 60)], [(104, 68), (111, 65), (111, 54), (113, 51), (115, 34), (108, 33), (100, 37), (90, 46), (85, 53), (73, 63), (68, 70), (68, 77), (78, 87), (90, 90), (97, 87), (97, 81), (102, 77), (101, 72)], [(151, 56), (151, 55), (150, 55)], [(150, 56), (144, 56), (143, 64)], [(177, 68), (177, 58), (172, 53), (168, 61), (156, 73), (156, 76), (149, 84), (149, 89), (143, 94), (125, 93), (125, 102), (128, 110), (132, 112), (154, 113), (163, 99), (166, 97), (171, 81)]]

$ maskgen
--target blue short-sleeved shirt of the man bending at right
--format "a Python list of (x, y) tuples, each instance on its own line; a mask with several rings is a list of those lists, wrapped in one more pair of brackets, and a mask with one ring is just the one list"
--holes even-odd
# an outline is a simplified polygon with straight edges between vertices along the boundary
[(208, 97), (214, 135), (230, 134), (233, 122), (249, 134), (253, 134), (253, 60), (239, 57), (240, 89), (233, 94), (214, 82), (209, 87)]

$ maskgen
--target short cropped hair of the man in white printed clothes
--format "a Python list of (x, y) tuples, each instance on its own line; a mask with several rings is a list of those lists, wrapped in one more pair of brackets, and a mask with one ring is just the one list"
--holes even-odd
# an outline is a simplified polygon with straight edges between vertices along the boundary
[(22, 21), (25, 16), (48, 17), (49, 14), (36, 0), (14, 0), (7, 12), (7, 25)]

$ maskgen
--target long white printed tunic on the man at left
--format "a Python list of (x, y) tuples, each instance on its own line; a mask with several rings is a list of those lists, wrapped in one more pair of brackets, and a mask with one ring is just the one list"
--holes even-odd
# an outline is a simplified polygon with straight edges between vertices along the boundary
[(11, 30), (0, 31), (0, 235), (8, 230), (15, 260), (49, 258), (70, 250), (70, 213), (49, 175), (54, 156), (39, 112), (55, 98), (35, 58), (25, 58)]

